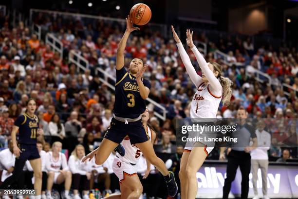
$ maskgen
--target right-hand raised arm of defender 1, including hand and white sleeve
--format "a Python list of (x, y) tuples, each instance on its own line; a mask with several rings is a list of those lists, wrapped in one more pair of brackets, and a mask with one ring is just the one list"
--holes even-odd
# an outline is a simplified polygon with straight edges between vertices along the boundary
[(190, 30), (187, 29), (186, 30), (186, 43), (187, 45), (190, 47), (190, 49), (192, 50), (192, 52), (194, 53), (194, 55), (196, 56), (196, 59), (200, 65), (200, 68), (202, 69), (202, 71), (204, 72), (206, 78), (208, 79), (208, 81), (211, 84), (211, 87), (214, 90), (218, 90), (221, 89), (221, 83), (219, 82), (219, 80), (214, 76), (213, 72), (209, 69), (208, 64), (206, 62), (206, 60), (204, 59), (204, 57), (201, 55), (201, 53), (199, 52), (199, 50), (196, 48), (196, 46), (193, 44), (193, 40), (192, 40), (192, 34), (193, 31), (190, 33)]

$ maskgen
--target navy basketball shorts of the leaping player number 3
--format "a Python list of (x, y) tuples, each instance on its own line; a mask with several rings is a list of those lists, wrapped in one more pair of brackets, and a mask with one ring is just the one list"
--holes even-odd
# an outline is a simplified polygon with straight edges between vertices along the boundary
[(104, 138), (119, 144), (126, 136), (129, 136), (131, 144), (143, 143), (149, 140), (142, 119), (126, 124), (112, 118), (111, 127), (107, 130)]

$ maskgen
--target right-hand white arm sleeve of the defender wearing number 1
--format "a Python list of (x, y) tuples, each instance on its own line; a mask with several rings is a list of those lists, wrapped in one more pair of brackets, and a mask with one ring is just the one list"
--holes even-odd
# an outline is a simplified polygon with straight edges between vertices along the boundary
[(204, 75), (209, 81), (211, 85), (211, 90), (214, 92), (215, 95), (222, 95), (222, 85), (219, 82), (219, 80), (214, 76), (213, 72), (209, 69), (205, 58), (201, 55), (196, 46), (192, 47), (191, 50), (196, 56), (201, 70), (203, 71)]

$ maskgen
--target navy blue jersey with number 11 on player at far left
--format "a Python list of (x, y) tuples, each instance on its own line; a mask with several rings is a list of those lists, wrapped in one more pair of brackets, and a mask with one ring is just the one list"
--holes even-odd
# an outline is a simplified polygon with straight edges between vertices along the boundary
[(36, 115), (31, 117), (23, 113), (16, 119), (15, 125), (19, 127), (20, 144), (36, 144), (37, 129), (39, 127), (39, 119)]

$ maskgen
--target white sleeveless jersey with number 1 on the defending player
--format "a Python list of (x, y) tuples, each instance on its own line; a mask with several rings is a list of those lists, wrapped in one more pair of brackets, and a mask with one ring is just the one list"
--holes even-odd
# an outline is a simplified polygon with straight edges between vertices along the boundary
[(215, 96), (209, 84), (202, 82), (191, 101), (190, 118), (216, 118), (222, 96)]

